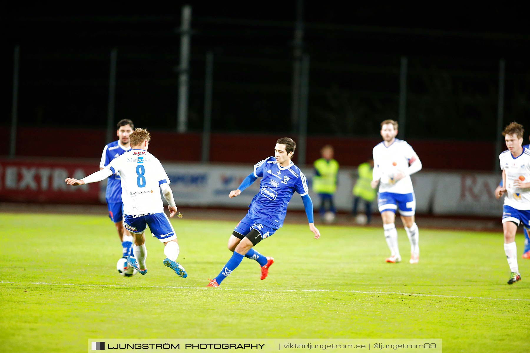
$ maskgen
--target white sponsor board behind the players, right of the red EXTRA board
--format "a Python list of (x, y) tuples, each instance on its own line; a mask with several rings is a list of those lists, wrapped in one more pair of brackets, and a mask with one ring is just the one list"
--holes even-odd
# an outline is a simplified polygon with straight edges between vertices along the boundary
[[(242, 180), (252, 173), (252, 166), (164, 164), (171, 179), (175, 201), (181, 206), (246, 207), (259, 192), (260, 179), (256, 180), (240, 196), (229, 198), (230, 191), (237, 189)], [(310, 187), (315, 211), (320, 200), (312, 191), (314, 170), (302, 168)], [(339, 171), (339, 183), (334, 196), (337, 210), (351, 211), (352, 188), (357, 170), (343, 168)], [(493, 191), (500, 181), (500, 173), (443, 173), (419, 171), (412, 175), (416, 194), (416, 211), (435, 215), (501, 216), (502, 200), (496, 200)], [(274, 189), (272, 184), (268, 188)], [(289, 203), (291, 210), (303, 210), (302, 198), (297, 193)], [(373, 210), (377, 210), (374, 201)], [(359, 205), (359, 211), (364, 206)]]

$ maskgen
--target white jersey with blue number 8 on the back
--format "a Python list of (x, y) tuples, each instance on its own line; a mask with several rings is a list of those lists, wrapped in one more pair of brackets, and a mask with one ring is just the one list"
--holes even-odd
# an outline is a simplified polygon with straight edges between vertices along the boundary
[(169, 184), (170, 180), (160, 161), (151, 153), (133, 149), (114, 158), (105, 168), (120, 173), (124, 214), (164, 212), (160, 185)]

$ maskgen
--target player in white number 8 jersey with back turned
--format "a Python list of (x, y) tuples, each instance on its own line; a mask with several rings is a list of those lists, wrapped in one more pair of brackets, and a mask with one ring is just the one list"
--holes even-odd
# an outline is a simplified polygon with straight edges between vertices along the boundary
[[(121, 177), (121, 199), (123, 201), (123, 226), (134, 238), (133, 254), (127, 257), (129, 266), (134, 267), (139, 273), (145, 275), (147, 268), (145, 260), (147, 249), (145, 247), (145, 228), (153, 237), (164, 243), (164, 254), (167, 256), (163, 264), (175, 271), (180, 277), (187, 277), (184, 268), (176, 263), (179, 256), (179, 244), (176, 234), (169, 219), (164, 213), (164, 204), (160, 198), (158, 188), (162, 190), (165, 200), (169, 204), (170, 217), (176, 214), (173, 193), (169, 187), (170, 180), (165, 173), (160, 161), (147, 152), (151, 137), (145, 129), (135, 129), (129, 135), (131, 150), (114, 158), (100, 171), (81, 180), (66, 178), (68, 185), (83, 185), (100, 182), (108, 176), (119, 171)], [(180, 213), (179, 213), (180, 214)]]

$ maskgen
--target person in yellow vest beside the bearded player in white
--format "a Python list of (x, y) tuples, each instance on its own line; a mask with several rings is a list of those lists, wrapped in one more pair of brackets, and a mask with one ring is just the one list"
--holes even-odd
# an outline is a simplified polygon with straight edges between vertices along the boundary
[[(372, 221), (372, 202), (375, 200), (377, 192), (372, 187), (372, 176), (374, 171), (374, 160), (370, 159), (367, 162), (360, 164), (357, 167), (357, 182), (355, 183), (352, 193), (354, 194), (354, 204), (351, 210), (351, 214), (356, 217), (356, 222), (359, 224), (369, 224)], [(361, 221), (361, 214), (357, 215), (357, 207), (359, 201), (363, 201), (365, 204), (366, 218)]]

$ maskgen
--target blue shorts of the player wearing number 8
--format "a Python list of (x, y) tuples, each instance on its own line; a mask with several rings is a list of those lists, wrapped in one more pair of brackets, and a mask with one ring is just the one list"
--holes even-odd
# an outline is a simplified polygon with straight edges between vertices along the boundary
[(164, 212), (123, 216), (123, 227), (131, 233), (141, 234), (149, 226), (153, 237), (165, 243), (176, 239), (176, 233)]

